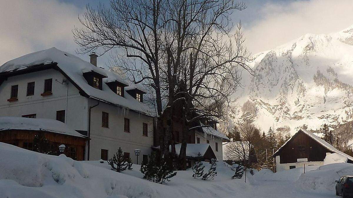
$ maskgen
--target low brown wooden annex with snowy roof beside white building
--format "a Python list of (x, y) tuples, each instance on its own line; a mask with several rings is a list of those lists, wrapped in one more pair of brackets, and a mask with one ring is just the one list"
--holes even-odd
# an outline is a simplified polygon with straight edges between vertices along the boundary
[(54, 119), (0, 117), (0, 142), (28, 150), (34, 149), (36, 136), (44, 136), (48, 142), (44, 153), (58, 155), (59, 145), (66, 146), (64, 154), (74, 160), (84, 160), (87, 136)]

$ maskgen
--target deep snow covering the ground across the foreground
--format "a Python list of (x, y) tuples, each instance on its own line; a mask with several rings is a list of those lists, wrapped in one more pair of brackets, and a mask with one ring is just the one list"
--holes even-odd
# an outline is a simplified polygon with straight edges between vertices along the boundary
[[(176, 197), (335, 197), (335, 180), (351, 174), (353, 165), (335, 163), (272, 173), (267, 169), (234, 179), (233, 171), (217, 163), (214, 180), (192, 178), (178, 171), (166, 185), (141, 179), (139, 165), (117, 173), (107, 162), (74, 161), (0, 143), (0, 198), (176, 198)], [(206, 168), (209, 164), (204, 163)], [(318, 169), (319, 168), (319, 169)]]

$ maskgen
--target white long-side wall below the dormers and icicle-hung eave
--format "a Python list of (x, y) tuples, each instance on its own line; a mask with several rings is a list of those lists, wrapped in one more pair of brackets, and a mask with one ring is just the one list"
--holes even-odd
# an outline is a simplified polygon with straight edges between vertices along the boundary
[[(89, 106), (95, 104), (97, 101), (89, 101)], [(102, 111), (109, 113), (109, 128), (102, 127)], [(130, 133), (124, 132), (124, 118), (130, 119)], [(142, 135), (142, 123), (148, 124), (147, 137)], [(101, 159), (101, 149), (108, 150), (108, 158), (112, 158), (121, 147), (123, 152), (130, 153), (133, 163), (136, 163), (134, 150), (140, 149), (141, 164), (143, 155), (152, 151), (153, 118), (101, 102), (91, 112), (91, 139), (90, 160)]]

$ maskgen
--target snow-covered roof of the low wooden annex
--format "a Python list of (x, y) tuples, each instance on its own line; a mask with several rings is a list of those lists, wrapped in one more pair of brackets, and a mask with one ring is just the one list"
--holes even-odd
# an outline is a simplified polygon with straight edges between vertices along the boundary
[(0, 117), (0, 131), (4, 130), (37, 130), (48, 131), (77, 137), (86, 137), (71, 129), (65, 123), (54, 119), (45, 118), (22, 118), (22, 117)]

